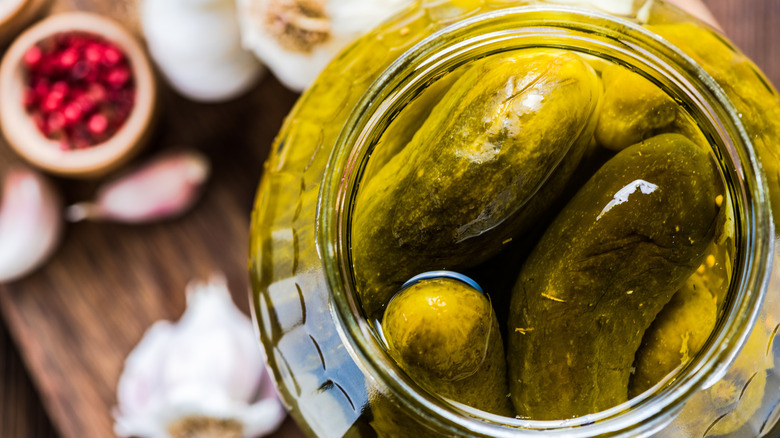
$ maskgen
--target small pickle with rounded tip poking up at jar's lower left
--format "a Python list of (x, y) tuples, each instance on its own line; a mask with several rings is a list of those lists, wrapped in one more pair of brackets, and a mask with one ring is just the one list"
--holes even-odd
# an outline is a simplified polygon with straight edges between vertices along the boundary
[(498, 320), (481, 292), (451, 278), (421, 280), (390, 301), (382, 330), (390, 355), (422, 387), (514, 415)]

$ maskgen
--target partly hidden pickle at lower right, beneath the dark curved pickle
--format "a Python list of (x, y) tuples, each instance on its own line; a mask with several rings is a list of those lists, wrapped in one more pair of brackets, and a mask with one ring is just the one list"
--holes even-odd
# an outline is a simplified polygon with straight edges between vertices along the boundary
[(628, 385), (629, 398), (652, 388), (699, 353), (715, 328), (715, 301), (699, 274), (688, 278), (642, 338), (634, 359), (636, 371)]

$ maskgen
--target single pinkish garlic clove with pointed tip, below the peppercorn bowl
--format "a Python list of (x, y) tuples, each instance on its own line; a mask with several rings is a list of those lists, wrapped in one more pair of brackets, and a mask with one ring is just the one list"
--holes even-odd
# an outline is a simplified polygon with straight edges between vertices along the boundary
[(180, 216), (197, 201), (209, 177), (208, 159), (195, 151), (162, 155), (98, 191), (94, 202), (71, 205), (70, 222), (145, 223)]

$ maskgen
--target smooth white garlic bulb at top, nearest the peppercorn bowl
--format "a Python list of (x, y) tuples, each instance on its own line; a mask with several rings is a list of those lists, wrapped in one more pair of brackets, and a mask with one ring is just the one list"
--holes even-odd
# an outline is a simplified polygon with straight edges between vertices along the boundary
[(241, 47), (234, 0), (143, 0), (149, 52), (170, 84), (198, 101), (236, 97), (262, 65)]

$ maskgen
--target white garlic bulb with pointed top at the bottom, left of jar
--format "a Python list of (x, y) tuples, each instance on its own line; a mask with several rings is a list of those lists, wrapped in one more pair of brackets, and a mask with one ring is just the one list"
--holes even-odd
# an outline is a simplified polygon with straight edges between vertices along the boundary
[(286, 415), (252, 323), (221, 277), (190, 284), (179, 322), (147, 330), (127, 357), (117, 400), (121, 437), (255, 437)]

